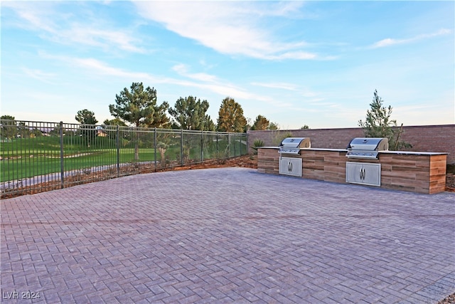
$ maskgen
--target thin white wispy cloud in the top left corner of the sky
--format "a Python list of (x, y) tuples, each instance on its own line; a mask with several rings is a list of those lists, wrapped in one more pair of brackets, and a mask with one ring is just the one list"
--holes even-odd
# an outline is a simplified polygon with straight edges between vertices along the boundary
[[(135, 38), (128, 28), (115, 28), (94, 19), (91, 12), (78, 8), (77, 12), (69, 13), (65, 2), (29, 2), (4, 1), (4, 9), (14, 11), (14, 26), (35, 31), (48, 41), (77, 46), (96, 46), (106, 51), (118, 48), (132, 53), (145, 53), (141, 41)], [(83, 23), (80, 19), (85, 20)]]

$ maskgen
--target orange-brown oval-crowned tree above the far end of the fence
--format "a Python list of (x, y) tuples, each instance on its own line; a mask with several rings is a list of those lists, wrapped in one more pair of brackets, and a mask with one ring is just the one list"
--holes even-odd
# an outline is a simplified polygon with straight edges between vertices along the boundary
[(243, 116), (242, 106), (233, 98), (225, 98), (218, 111), (218, 131), (242, 132), (247, 126), (247, 119)]

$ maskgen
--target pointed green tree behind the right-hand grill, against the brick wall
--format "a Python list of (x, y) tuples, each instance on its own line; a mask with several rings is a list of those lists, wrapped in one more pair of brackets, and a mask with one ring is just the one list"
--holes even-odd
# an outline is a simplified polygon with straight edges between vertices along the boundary
[(390, 150), (400, 150), (405, 147), (412, 147), (407, 142), (400, 141), (402, 127), (397, 129), (397, 120), (391, 120), (392, 106), (385, 108), (384, 101), (378, 95), (378, 90), (373, 93), (373, 102), (370, 103), (370, 110), (367, 110), (365, 121), (359, 120), (359, 127), (363, 128), (365, 137), (387, 137)]

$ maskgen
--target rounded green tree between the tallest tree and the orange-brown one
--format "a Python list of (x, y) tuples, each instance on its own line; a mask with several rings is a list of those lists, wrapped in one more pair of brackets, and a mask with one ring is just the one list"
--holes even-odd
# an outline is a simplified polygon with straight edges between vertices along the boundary
[(168, 112), (173, 116), (174, 126), (184, 130), (203, 130), (214, 131), (215, 125), (209, 115), (208, 101), (196, 101), (196, 97), (178, 98), (174, 108), (169, 108)]

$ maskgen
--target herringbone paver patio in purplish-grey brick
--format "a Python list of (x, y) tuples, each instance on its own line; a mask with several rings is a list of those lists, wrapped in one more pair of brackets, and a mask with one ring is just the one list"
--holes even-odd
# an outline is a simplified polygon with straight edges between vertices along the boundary
[(244, 168), (110, 179), (1, 201), (0, 271), (2, 303), (437, 303), (455, 194)]

